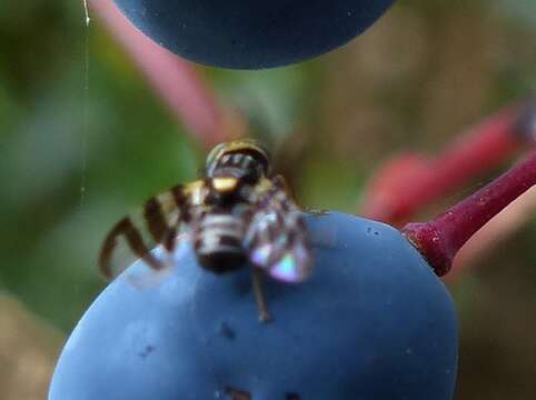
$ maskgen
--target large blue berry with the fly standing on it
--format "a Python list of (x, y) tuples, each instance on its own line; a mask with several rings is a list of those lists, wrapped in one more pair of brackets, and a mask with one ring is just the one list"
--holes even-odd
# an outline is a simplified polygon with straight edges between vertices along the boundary
[(137, 262), (99, 296), (49, 399), (450, 400), (455, 310), (419, 252), (379, 222), (306, 221), (315, 270), (264, 280), (272, 321), (258, 321), (249, 268), (216, 276), (182, 246), (167, 274)]

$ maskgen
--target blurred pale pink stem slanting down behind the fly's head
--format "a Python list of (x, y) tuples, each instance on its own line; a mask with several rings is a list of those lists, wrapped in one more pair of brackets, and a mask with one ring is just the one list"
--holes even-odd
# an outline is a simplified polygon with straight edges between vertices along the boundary
[(143, 71), (155, 91), (202, 144), (211, 148), (224, 141), (226, 112), (192, 64), (137, 30), (112, 0), (91, 0), (89, 4)]

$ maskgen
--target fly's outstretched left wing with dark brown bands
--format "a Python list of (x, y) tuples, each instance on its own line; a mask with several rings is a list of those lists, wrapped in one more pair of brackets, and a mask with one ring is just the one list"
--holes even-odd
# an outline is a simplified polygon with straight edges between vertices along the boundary
[(107, 234), (99, 253), (99, 267), (107, 277), (119, 274), (131, 261), (131, 258), (119, 258), (116, 253), (122, 243), (130, 254), (143, 259), (156, 270), (163, 269), (167, 263), (151, 253), (151, 249), (162, 244), (171, 252), (176, 238), (188, 216), (192, 186), (178, 184), (167, 192), (150, 198), (141, 210), (123, 217)]

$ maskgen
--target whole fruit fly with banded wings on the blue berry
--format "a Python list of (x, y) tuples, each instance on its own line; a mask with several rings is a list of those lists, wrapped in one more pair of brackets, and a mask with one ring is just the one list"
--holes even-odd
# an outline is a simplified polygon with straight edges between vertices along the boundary
[(301, 211), (285, 179), (270, 170), (268, 153), (254, 141), (218, 144), (207, 158), (201, 179), (150, 198), (140, 212), (142, 223), (133, 217), (116, 223), (100, 251), (102, 272), (112, 276), (111, 256), (120, 238), (135, 256), (162, 270), (169, 262), (151, 248), (160, 244), (170, 256), (186, 237), (199, 264), (211, 272), (230, 272), (249, 261), (259, 319), (269, 320), (261, 272), (301, 282), (312, 264)]

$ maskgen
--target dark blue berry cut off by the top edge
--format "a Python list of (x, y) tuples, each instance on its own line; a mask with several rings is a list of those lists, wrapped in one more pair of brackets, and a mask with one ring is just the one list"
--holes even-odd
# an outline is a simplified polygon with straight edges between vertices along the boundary
[(361, 33), (395, 0), (116, 0), (169, 50), (205, 64), (259, 69), (308, 59)]

